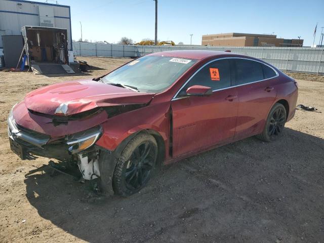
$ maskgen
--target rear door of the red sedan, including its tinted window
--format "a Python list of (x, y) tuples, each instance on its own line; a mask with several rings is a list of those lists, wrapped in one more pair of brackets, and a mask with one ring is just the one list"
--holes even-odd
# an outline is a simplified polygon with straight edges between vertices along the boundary
[(271, 79), (277, 73), (252, 59), (235, 58), (235, 82), (238, 93), (238, 114), (235, 139), (262, 132), (269, 109), (276, 97)]

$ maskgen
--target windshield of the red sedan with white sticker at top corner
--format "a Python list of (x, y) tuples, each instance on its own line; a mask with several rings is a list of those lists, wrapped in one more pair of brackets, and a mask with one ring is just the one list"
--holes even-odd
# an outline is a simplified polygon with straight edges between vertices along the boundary
[(195, 62), (196, 60), (187, 58), (144, 56), (112, 71), (101, 81), (139, 92), (160, 93)]

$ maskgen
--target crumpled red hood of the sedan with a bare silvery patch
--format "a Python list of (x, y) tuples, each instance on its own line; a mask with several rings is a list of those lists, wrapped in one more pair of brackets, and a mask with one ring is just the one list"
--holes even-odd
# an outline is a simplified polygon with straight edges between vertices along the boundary
[(154, 94), (140, 93), (92, 80), (63, 82), (28, 93), (28, 109), (45, 113), (72, 115), (96, 107), (146, 104)]

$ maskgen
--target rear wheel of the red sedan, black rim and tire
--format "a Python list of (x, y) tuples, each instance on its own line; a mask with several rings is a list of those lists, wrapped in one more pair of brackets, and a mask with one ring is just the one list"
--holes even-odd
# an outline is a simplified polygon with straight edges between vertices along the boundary
[(271, 108), (263, 132), (256, 135), (258, 139), (265, 142), (276, 140), (285, 130), (287, 111), (284, 105), (280, 103), (274, 104)]

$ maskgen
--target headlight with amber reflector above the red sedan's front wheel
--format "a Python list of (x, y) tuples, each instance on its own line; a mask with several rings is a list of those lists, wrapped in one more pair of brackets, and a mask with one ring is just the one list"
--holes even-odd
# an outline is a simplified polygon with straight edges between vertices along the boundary
[(78, 153), (91, 147), (97, 142), (101, 134), (101, 127), (95, 127), (84, 132), (73, 134), (67, 140), (67, 144), (71, 145), (69, 151), (71, 153)]

